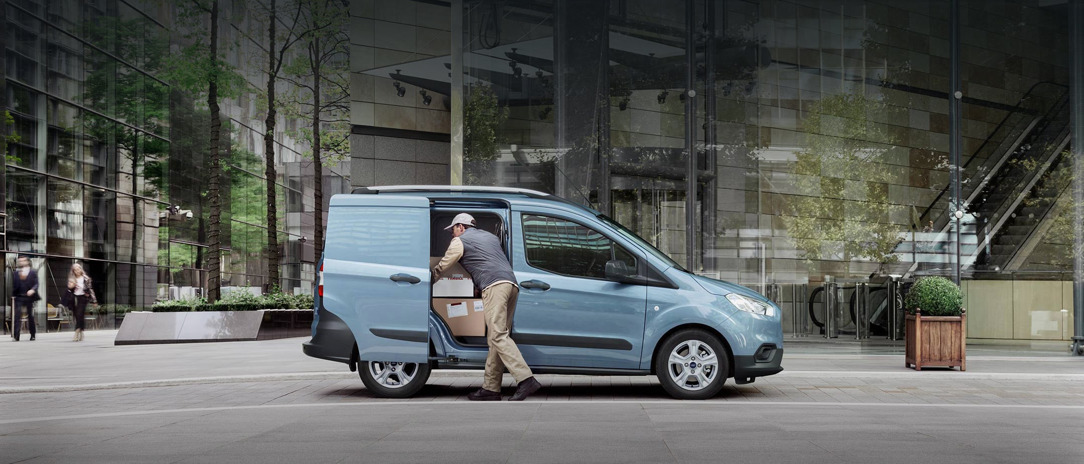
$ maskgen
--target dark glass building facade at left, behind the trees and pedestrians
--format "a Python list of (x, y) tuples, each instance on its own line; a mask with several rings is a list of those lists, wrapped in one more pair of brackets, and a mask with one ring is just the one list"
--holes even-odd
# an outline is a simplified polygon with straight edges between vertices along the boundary
[[(222, 11), (236, 11), (224, 2)], [(25, 254), (38, 270), (40, 330), (69, 330), (57, 313), (79, 261), (102, 304), (93, 327), (113, 328), (117, 306), (203, 294), (207, 279), (205, 104), (163, 80), (163, 57), (182, 38), (177, 12), (157, 1), (0, 1), (3, 17), (7, 278)], [(228, 20), (233, 20), (224, 15)], [(240, 21), (240, 18), (238, 18)], [(229, 21), (223, 30), (233, 30)], [(234, 40), (225, 36), (228, 40)], [(238, 40), (241, 42), (242, 40)], [(229, 56), (244, 65), (247, 44)], [(257, 73), (258, 74), (258, 73)], [(268, 271), (262, 112), (258, 95), (223, 102), (223, 287), (266, 288)], [(296, 125), (297, 121), (282, 124)], [(287, 292), (313, 273), (312, 168), (276, 138), (279, 242)], [(324, 192), (346, 182), (325, 170)], [(4, 331), (12, 315), (4, 289)]]

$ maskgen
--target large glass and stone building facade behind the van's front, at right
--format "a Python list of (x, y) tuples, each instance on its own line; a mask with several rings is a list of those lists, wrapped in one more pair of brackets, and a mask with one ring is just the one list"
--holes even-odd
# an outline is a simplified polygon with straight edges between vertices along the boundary
[[(414, 21), (361, 3), (377, 23)], [(881, 289), (943, 275), (964, 287), (969, 337), (1072, 337), (1077, 2), (447, 5), (447, 55), (382, 63), (377, 43), (360, 73), (451, 98), (453, 182), (590, 205), (779, 301), (795, 335), (838, 317), (830, 335), (860, 336), (860, 284), (865, 335), (890, 335)]]

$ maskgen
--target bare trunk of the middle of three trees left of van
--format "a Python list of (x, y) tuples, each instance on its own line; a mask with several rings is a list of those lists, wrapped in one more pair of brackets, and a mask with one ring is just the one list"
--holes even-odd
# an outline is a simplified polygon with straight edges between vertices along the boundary
[(279, 210), (275, 206), (275, 178), (278, 177), (274, 166), (274, 123), (275, 123), (275, 107), (274, 107), (274, 80), (275, 75), (275, 0), (271, 0), (271, 15), (270, 21), (268, 21), (268, 40), (270, 44), (268, 46), (268, 117), (263, 120), (264, 132), (263, 132), (263, 158), (266, 169), (263, 176), (267, 178), (267, 191), (268, 191), (268, 283), (271, 284), (271, 289), (279, 288)]

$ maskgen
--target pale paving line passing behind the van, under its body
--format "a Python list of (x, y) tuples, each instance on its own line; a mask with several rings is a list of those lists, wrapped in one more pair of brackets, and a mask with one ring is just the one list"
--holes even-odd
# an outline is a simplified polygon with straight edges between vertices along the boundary
[[(358, 379), (358, 374), (349, 371), (331, 372), (293, 372), (278, 374), (223, 375), (212, 377), (163, 378), (150, 381), (113, 382), (103, 384), (76, 385), (33, 385), (33, 386), (0, 386), (3, 394), (38, 394), (81, 390), (104, 390), (115, 388), (171, 387), (177, 385), (232, 384), (243, 382), (281, 382), (281, 381), (320, 381), (320, 379)], [(480, 370), (437, 370), (434, 377), (479, 376)], [(564, 376), (564, 375), (563, 375)], [(575, 375), (586, 376), (586, 375)], [(1019, 372), (959, 372), (954, 370), (940, 371), (783, 371), (772, 377), (790, 378), (938, 378), (938, 379), (1023, 379), (1023, 381), (1071, 381), (1084, 379), (1084, 373), (1019, 373)], [(771, 377), (769, 377), (771, 378)], [(358, 382), (361, 382), (358, 379)]]

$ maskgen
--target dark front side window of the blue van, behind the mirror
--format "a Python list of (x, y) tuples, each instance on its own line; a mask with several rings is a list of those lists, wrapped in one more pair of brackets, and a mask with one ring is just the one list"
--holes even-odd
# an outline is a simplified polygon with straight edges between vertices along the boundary
[(606, 261), (636, 269), (635, 255), (605, 235), (567, 219), (522, 215), (524, 250), (534, 268), (557, 274), (606, 279)]

